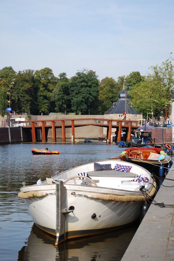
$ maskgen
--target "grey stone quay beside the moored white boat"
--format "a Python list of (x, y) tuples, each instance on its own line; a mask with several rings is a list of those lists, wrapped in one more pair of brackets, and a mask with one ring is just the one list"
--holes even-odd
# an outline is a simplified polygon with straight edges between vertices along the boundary
[(151, 204), (121, 261), (174, 260), (174, 169), (166, 175), (154, 200), (165, 207)]

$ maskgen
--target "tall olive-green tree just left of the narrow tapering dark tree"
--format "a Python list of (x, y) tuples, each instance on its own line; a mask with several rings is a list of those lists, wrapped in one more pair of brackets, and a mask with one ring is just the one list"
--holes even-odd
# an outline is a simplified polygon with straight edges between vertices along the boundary
[(56, 88), (57, 78), (50, 68), (35, 71), (35, 86), (38, 88), (39, 113), (48, 114), (54, 111), (55, 104), (52, 102), (52, 92)]

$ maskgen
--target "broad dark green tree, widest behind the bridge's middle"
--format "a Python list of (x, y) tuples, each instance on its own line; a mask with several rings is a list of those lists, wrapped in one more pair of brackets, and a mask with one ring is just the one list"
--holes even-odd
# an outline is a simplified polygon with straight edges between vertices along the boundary
[(94, 113), (98, 105), (99, 80), (92, 70), (83, 69), (70, 79), (72, 110), (79, 115)]

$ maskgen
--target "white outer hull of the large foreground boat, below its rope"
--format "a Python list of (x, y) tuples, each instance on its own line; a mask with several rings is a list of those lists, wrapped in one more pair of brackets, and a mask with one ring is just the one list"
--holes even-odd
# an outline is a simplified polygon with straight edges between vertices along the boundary
[[(140, 215), (143, 201), (94, 200), (72, 195), (72, 192), (79, 193), (79, 189), (76, 190), (74, 187), (66, 190), (66, 209), (70, 206), (74, 207), (73, 212), (65, 215), (67, 239), (117, 229), (135, 221)], [(46, 197), (29, 198), (25, 201), (34, 223), (45, 232), (56, 236), (56, 191), (49, 191), (49, 193), (51, 194)], [(86, 194), (86, 191), (81, 190), (80, 194)]]

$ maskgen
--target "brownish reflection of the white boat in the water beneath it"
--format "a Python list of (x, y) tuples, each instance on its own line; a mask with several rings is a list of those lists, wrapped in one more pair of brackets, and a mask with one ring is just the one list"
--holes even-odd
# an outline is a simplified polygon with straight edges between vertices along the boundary
[(27, 246), (19, 251), (17, 260), (121, 260), (136, 229), (137, 226), (134, 225), (111, 233), (69, 240), (57, 247), (55, 237), (45, 234), (33, 225)]

